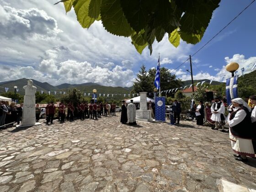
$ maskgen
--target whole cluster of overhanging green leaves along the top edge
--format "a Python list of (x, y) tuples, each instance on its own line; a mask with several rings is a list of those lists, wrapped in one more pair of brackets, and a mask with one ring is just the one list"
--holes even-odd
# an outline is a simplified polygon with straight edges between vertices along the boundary
[[(101, 20), (105, 29), (117, 36), (131, 37), (139, 53), (165, 33), (175, 47), (180, 40), (201, 41), (220, 0), (60, 0), (66, 12), (73, 7), (77, 21), (89, 28)], [(59, 3), (57, 2), (57, 3)], [(57, 4), (56, 3), (56, 4)]]

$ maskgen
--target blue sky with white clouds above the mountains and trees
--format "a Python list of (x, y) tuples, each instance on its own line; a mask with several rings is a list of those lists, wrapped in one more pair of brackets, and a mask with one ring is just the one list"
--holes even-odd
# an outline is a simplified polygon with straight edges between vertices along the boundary
[[(83, 29), (74, 10), (65, 14), (57, 0), (0, 0), (0, 82), (32, 78), (51, 85), (95, 82), (108, 86), (132, 86), (142, 64), (147, 70), (161, 66), (182, 80), (189, 80), (193, 55), (220, 29), (249, 5), (251, 0), (222, 0), (197, 45), (181, 42), (178, 48), (165, 35), (154, 43), (153, 53), (140, 55), (130, 38), (109, 34), (100, 21)], [(240, 68), (256, 62), (256, 3), (253, 3), (211, 43), (192, 57), (194, 79), (229, 77), (224, 66), (237, 62)], [(250, 68), (245, 71), (249, 73)], [(240, 74), (240, 69), (239, 69)]]

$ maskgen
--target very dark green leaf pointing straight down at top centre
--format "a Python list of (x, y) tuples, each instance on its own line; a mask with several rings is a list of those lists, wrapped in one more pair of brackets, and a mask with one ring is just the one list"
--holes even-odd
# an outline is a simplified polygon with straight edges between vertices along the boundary
[(139, 32), (148, 24), (155, 12), (156, 0), (121, 0), (124, 15), (134, 31)]

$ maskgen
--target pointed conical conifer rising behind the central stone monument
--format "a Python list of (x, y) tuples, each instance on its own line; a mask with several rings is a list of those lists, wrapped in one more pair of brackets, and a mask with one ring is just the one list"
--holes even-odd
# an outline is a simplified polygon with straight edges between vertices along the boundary
[(152, 82), (149, 79), (145, 65), (143, 64), (137, 74), (137, 78), (133, 83), (133, 93), (153, 92)]

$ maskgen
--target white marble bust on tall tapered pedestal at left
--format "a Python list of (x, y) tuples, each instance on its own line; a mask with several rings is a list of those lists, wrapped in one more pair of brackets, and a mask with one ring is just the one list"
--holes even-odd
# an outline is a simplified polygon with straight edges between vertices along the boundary
[(41, 123), (36, 122), (36, 96), (37, 87), (33, 86), (32, 80), (27, 80), (27, 85), (23, 86), (25, 89), (24, 105), (22, 110), (22, 120), (21, 125), (16, 125), (16, 127), (28, 127), (33, 125), (41, 125)]

